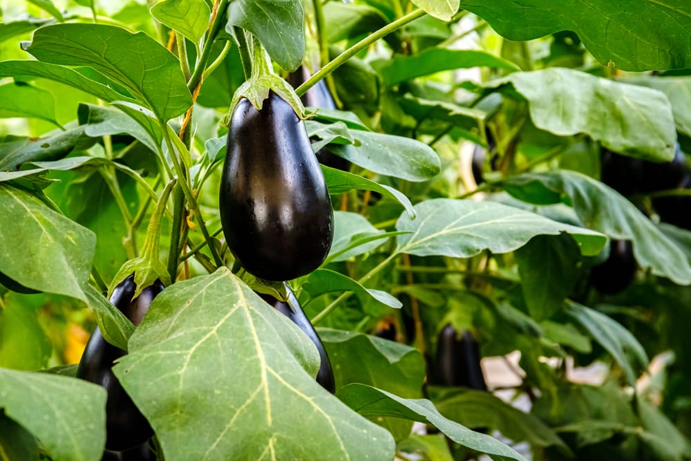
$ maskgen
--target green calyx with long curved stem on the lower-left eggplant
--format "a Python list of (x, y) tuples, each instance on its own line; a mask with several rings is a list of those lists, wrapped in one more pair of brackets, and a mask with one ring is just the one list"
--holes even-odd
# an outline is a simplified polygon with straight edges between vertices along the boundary
[(157, 279), (160, 279), (166, 286), (170, 285), (170, 274), (166, 265), (158, 258), (158, 255), (161, 240), (161, 220), (166, 209), (166, 203), (176, 182), (176, 179), (171, 180), (158, 198), (156, 208), (151, 215), (151, 220), (149, 220), (149, 227), (146, 228), (146, 240), (144, 240), (142, 256), (126, 261), (120, 267), (120, 270), (117, 271), (111, 285), (108, 287), (108, 297), (111, 296), (115, 287), (131, 274), (134, 274), (134, 283), (137, 285), (133, 299), (138, 297), (144, 288), (153, 285)]

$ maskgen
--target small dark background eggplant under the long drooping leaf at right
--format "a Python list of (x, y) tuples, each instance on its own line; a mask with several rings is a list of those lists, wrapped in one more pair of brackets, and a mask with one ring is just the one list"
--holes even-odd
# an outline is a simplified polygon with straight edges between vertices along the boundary
[(616, 294), (631, 284), (637, 269), (632, 243), (612, 240), (609, 242), (607, 261), (593, 267), (588, 280), (598, 292)]

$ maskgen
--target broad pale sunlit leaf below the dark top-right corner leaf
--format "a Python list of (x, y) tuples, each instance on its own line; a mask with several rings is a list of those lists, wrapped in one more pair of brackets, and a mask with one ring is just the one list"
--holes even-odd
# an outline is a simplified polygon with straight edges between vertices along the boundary
[(484, 86), (507, 84), (528, 101), (539, 129), (560, 136), (585, 133), (628, 156), (674, 158), (672, 106), (660, 91), (567, 68), (517, 72)]

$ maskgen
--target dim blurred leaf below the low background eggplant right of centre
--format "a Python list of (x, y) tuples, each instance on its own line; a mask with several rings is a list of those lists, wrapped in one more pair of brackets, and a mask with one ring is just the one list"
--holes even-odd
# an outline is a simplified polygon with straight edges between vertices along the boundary
[(544, 422), (530, 413), (505, 403), (492, 393), (460, 388), (429, 388), (432, 401), (445, 417), (468, 427), (500, 431), (513, 442), (531, 446), (558, 446), (571, 453), (568, 446)]

